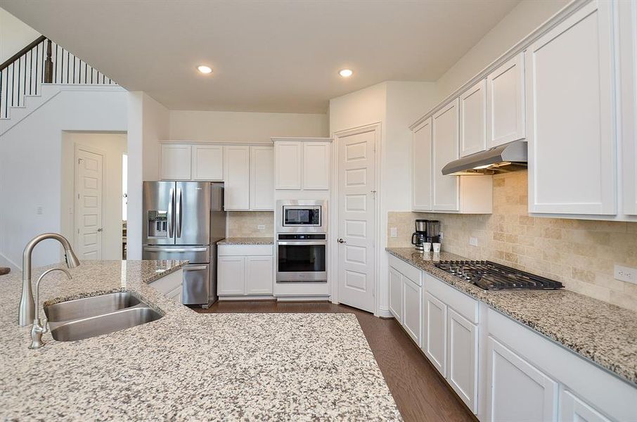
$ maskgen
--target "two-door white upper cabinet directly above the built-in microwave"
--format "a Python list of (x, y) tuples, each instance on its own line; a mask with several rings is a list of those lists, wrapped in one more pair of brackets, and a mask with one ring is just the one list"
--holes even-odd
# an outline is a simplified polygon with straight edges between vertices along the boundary
[(278, 190), (328, 191), (331, 139), (273, 138), (274, 186)]

